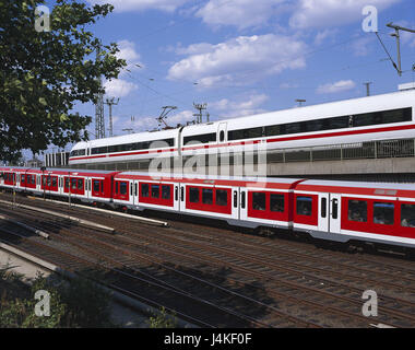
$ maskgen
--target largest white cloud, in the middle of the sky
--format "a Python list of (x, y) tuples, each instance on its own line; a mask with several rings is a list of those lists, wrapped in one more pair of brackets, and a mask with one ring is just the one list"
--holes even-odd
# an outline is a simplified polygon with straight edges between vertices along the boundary
[(275, 34), (239, 36), (217, 45), (190, 45), (180, 49), (189, 56), (170, 67), (168, 79), (198, 81), (204, 88), (242, 85), (286, 69), (304, 68), (306, 47), (295, 37)]

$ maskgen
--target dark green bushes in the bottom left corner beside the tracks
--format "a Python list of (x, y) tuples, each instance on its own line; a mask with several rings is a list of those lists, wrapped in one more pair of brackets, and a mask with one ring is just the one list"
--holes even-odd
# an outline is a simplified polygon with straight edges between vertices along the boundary
[[(57, 283), (38, 276), (28, 293), (16, 293), (15, 277), (3, 273), (4, 281), (9, 288), (2, 288), (0, 294), (0, 328), (115, 327), (110, 322), (110, 295), (90, 280)], [(35, 314), (38, 300), (34, 295), (39, 290), (50, 294), (50, 316)]]

